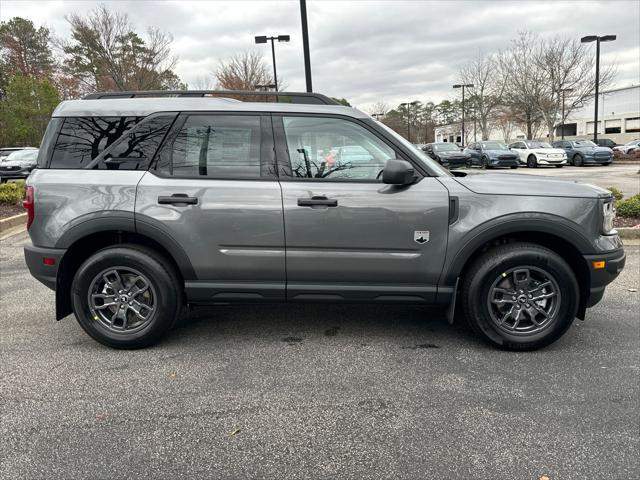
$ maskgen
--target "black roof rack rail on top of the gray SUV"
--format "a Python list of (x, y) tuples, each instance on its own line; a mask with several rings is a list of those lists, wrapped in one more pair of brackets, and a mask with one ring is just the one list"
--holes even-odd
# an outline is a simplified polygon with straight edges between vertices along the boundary
[[(302, 103), (313, 105), (340, 105), (334, 99), (320, 93), (308, 92), (254, 92), (253, 90), (141, 90), (125, 92), (97, 92), (83, 97), (83, 100), (106, 98), (149, 98), (149, 97), (262, 97), (264, 101), (276, 103)], [(261, 99), (262, 99), (261, 98)], [(260, 100), (261, 100), (260, 99)], [(270, 100), (273, 99), (273, 100)], [(260, 101), (252, 100), (252, 101)]]

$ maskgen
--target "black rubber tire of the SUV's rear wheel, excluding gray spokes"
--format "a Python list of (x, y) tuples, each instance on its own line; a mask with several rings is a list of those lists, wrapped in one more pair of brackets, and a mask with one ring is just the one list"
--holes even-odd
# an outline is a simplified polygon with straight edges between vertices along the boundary
[[(119, 245), (96, 252), (80, 266), (71, 286), (73, 312), (78, 323), (94, 340), (112, 348), (144, 348), (157, 343), (178, 319), (182, 308), (182, 282), (170, 265), (167, 259), (154, 250), (139, 245)], [(98, 317), (102, 315), (99, 312), (104, 309), (98, 311), (99, 307), (95, 307), (92, 310), (90, 305), (90, 289), (95, 288), (96, 281), (102, 281), (100, 276), (103, 272), (116, 267), (122, 269), (120, 271), (130, 269), (139, 273), (148, 282), (148, 291), (152, 292), (149, 295), (153, 298), (154, 309), (146, 323), (136, 319), (126, 305), (122, 307), (125, 312), (129, 312), (134, 321), (142, 322), (138, 329), (116, 331), (113, 318), (110, 328)], [(125, 283), (124, 279), (120, 284), (123, 283)], [(130, 284), (128, 289), (131, 291), (133, 286)], [(96, 293), (95, 290), (93, 291)], [(104, 296), (104, 293), (98, 293), (98, 296), (100, 295)], [(109, 296), (120, 297), (115, 291), (110, 292)], [(119, 298), (117, 300), (119, 301)], [(103, 303), (106, 303), (105, 300)], [(129, 305), (132, 304), (129, 303)], [(140, 304), (137, 303), (137, 305)], [(117, 311), (118, 307), (114, 308)], [(110, 316), (110, 312), (106, 311), (105, 315)]]

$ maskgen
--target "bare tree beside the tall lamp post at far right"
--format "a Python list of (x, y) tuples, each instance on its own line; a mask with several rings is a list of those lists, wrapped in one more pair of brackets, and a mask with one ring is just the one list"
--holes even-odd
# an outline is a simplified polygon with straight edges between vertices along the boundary
[[(535, 65), (545, 75), (538, 107), (549, 138), (553, 140), (555, 127), (563, 124), (569, 114), (585, 105), (595, 90), (595, 58), (593, 52), (577, 39), (554, 37), (543, 40), (536, 52)], [(600, 85), (606, 88), (613, 79), (615, 68), (606, 66), (600, 71)], [(562, 117), (562, 91), (566, 91)]]

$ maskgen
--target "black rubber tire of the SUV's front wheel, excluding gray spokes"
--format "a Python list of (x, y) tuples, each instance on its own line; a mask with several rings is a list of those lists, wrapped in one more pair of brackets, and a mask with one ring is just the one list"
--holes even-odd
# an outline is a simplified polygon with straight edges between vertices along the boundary
[[(500, 290), (495, 285), (497, 282), (502, 282), (503, 279), (515, 285), (509, 276), (510, 274), (505, 277), (505, 273), (513, 271), (513, 278), (515, 278), (515, 275), (523, 270), (533, 272), (536, 275), (538, 274), (536, 270), (547, 273), (552, 279), (550, 284), (553, 284), (549, 288), (556, 291), (556, 294), (552, 296), (553, 299), (549, 300), (548, 304), (546, 299), (538, 301), (544, 301), (543, 310), (547, 305), (552, 309), (551, 312), (547, 312), (551, 315), (545, 317), (548, 319), (547, 323), (540, 322), (543, 326), (538, 327), (538, 330), (535, 330), (537, 324), (529, 320), (530, 314), (527, 314), (528, 318), (525, 319), (525, 311), (530, 304), (520, 302), (530, 302), (526, 299), (526, 293), (523, 295), (516, 292), (515, 295), (518, 295), (518, 299), (514, 299), (515, 301), (498, 300), (503, 305), (511, 304), (511, 311), (518, 317), (522, 314), (522, 319), (531, 324), (531, 330), (528, 332), (523, 328), (520, 332), (511, 329), (510, 333), (508, 323), (504, 324), (504, 318), (501, 319), (502, 324), (499, 324), (495, 319), (500, 316), (495, 314), (499, 307), (494, 306), (492, 299), (495, 300), (495, 297), (492, 298), (491, 295)], [(533, 273), (530, 278), (533, 278)], [(497, 283), (497, 285), (501, 284)], [(516, 290), (517, 287), (513, 288)], [(535, 288), (531, 291), (534, 290)], [(526, 289), (524, 291), (526, 292)], [(538, 290), (538, 292), (544, 293), (545, 290)], [(520, 298), (523, 296), (524, 300)], [(514, 297), (510, 297), (510, 299), (512, 298)], [(489, 343), (507, 350), (535, 350), (555, 342), (573, 323), (578, 310), (578, 298), (578, 282), (571, 267), (555, 252), (531, 243), (512, 243), (489, 250), (473, 263), (466, 272), (462, 283), (464, 314), (471, 329)], [(540, 306), (541, 304), (538, 302), (536, 305)], [(520, 311), (514, 310), (515, 307), (523, 308)], [(508, 306), (503, 308), (508, 308)], [(532, 307), (530, 310), (533, 309), (536, 307)], [(513, 317), (511, 318), (513, 319)], [(518, 320), (513, 320), (514, 328), (517, 328), (515, 323)]]

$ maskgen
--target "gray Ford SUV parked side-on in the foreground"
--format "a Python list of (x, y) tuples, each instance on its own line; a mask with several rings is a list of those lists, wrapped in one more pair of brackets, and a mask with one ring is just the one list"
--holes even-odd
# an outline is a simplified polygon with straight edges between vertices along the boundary
[(61, 103), (27, 182), (27, 265), (105, 345), (151, 345), (187, 304), (384, 302), (535, 349), (624, 266), (607, 190), (452, 174), (317, 94), (166, 95)]

